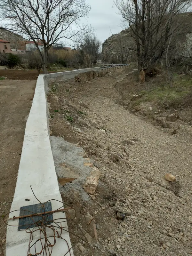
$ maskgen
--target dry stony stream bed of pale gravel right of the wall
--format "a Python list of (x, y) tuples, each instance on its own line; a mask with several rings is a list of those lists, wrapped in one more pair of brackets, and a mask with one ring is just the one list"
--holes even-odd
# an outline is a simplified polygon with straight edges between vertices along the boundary
[[(52, 110), (53, 135), (73, 138), (102, 173), (95, 199), (104, 208), (92, 201), (84, 204), (100, 225), (99, 241), (105, 250), (99, 254), (99, 248), (94, 255), (191, 255), (192, 137), (159, 131), (119, 105), (114, 86), (124, 76), (124, 71), (112, 71), (82, 85), (67, 82), (62, 93), (56, 90), (56, 96), (49, 96), (52, 109), (59, 110)], [(71, 125), (63, 119), (64, 106), (68, 116), (74, 108), (86, 116), (74, 114)], [(165, 173), (172, 173), (176, 181), (166, 181)], [(110, 207), (114, 200), (115, 206)], [(121, 224), (115, 211), (127, 215)], [(74, 251), (90, 255), (88, 249), (82, 254)]]

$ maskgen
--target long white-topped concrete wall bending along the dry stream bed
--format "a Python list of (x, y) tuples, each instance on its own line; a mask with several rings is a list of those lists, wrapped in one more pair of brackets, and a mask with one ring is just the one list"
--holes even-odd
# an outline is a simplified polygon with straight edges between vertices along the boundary
[[(106, 67), (107, 69), (114, 67)], [(36, 83), (35, 95), (33, 104), (26, 123), (23, 148), (21, 153), (19, 172), (15, 194), (9, 215), (9, 218), (20, 215), (20, 207), (33, 204), (39, 204), (56, 199), (62, 201), (55, 166), (52, 156), (50, 138), (49, 138), (49, 122), (48, 108), (46, 100), (45, 86), (50, 79), (66, 80), (74, 78), (79, 73), (87, 71), (99, 71), (100, 68), (86, 68), (74, 71), (52, 73), (47, 75), (39, 75)], [(37, 199), (32, 193), (32, 187)], [(30, 201), (26, 201), (29, 199)], [(62, 203), (52, 201), (52, 210), (62, 207)], [(21, 214), (22, 215), (22, 214)], [(53, 219), (65, 218), (65, 213), (57, 212), (53, 214)], [(67, 222), (65, 222), (67, 226)], [(7, 226), (6, 237), (6, 256), (26, 256), (28, 252), (30, 234), (26, 233), (25, 229), (18, 231), (19, 220), (9, 220)], [(51, 236), (50, 231), (47, 236)], [(71, 247), (68, 232), (63, 232), (62, 237), (68, 242)], [(33, 234), (33, 243), (39, 239), (39, 232)], [(37, 251), (41, 251), (40, 242), (38, 242)], [(52, 247), (52, 256), (63, 256), (68, 252), (68, 245), (65, 241), (57, 239), (56, 244)], [(39, 249), (39, 250), (38, 250)], [(33, 252), (35, 254), (35, 252)], [(32, 253), (32, 254), (33, 254)], [(67, 256), (69, 256), (69, 252)], [(71, 256), (73, 252), (71, 250)]]

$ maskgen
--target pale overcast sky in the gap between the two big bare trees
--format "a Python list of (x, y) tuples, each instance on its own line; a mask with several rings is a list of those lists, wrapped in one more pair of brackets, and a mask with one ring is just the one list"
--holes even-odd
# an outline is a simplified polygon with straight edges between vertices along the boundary
[(102, 43), (122, 30), (119, 26), (121, 15), (117, 14), (117, 8), (113, 8), (113, 0), (87, 0), (87, 3), (91, 5), (88, 23), (96, 29), (95, 33)]

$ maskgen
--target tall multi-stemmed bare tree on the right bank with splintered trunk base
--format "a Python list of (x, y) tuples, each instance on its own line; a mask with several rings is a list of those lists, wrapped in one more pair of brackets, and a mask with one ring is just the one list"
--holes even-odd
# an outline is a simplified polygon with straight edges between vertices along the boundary
[(134, 42), (129, 49), (135, 52), (140, 81), (144, 82), (147, 68), (163, 57), (170, 36), (184, 33), (178, 19), (188, 18), (181, 12), (188, 10), (191, 0), (113, 1)]

